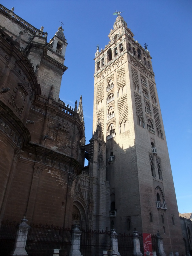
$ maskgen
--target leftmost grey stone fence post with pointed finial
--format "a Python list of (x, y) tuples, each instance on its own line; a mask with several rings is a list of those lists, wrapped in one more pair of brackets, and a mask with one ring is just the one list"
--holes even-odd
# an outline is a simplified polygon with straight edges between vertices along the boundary
[(27, 256), (27, 252), (25, 250), (26, 241), (27, 241), (27, 234), (28, 230), (30, 229), (29, 225), (26, 223), (26, 215), (24, 215), (24, 218), (21, 220), (22, 222), (17, 226), (17, 234), (15, 238), (15, 245), (12, 253), (10, 255), (12, 256)]

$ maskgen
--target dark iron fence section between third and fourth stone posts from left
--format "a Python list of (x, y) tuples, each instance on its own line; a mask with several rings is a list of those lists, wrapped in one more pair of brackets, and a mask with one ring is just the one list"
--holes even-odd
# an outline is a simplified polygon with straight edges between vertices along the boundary
[(132, 256), (133, 249), (133, 235), (120, 233), (118, 236), (118, 251), (121, 256)]

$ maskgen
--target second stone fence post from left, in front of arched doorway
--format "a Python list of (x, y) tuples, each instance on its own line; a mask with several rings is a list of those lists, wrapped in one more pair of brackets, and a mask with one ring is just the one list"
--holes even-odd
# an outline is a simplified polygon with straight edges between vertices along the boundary
[(69, 256), (82, 256), (79, 249), (80, 249), (80, 240), (81, 240), (81, 233), (79, 229), (79, 225), (74, 225), (71, 230), (71, 249)]

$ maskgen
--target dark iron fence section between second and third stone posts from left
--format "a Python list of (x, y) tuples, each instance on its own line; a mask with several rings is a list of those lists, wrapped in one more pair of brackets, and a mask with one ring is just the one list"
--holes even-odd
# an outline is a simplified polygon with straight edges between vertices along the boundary
[(111, 252), (110, 231), (83, 230), (81, 233), (80, 252), (83, 256), (102, 255), (103, 251)]

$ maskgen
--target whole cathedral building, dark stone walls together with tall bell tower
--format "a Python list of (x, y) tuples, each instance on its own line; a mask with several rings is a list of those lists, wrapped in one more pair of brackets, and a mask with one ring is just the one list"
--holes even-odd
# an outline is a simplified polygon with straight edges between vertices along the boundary
[[(95, 54), (93, 136), (59, 99), (67, 40), (0, 8), (0, 221), (143, 233), (183, 254), (151, 56), (118, 16)], [(88, 166), (84, 167), (84, 159)]]

